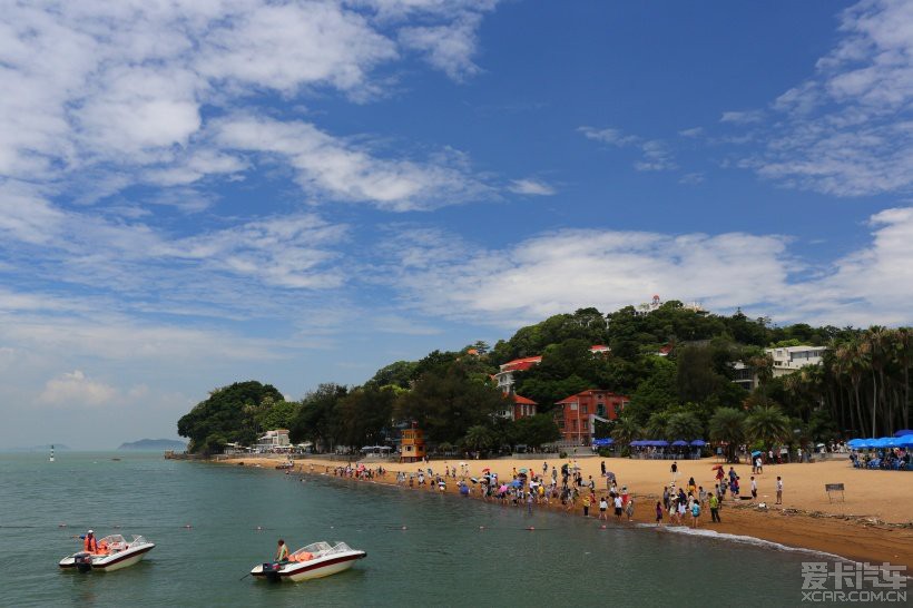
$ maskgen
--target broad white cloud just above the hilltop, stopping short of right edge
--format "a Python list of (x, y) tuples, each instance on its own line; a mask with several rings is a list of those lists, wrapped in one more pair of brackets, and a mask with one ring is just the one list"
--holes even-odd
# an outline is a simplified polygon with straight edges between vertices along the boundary
[[(613, 310), (651, 293), (725, 308), (775, 301), (785, 239), (746, 234), (563, 231), (484, 251), (452, 235), (405, 235), (395, 283), (425, 313), (516, 327), (558, 312)], [(436, 251), (435, 243), (445, 243)]]

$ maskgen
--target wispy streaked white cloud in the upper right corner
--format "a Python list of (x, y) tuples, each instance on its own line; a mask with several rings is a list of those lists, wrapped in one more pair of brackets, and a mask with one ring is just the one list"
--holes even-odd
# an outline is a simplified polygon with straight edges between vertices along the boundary
[(740, 166), (836, 196), (911, 190), (913, 3), (864, 0), (844, 10), (835, 48), (772, 109), (759, 134), (765, 149)]

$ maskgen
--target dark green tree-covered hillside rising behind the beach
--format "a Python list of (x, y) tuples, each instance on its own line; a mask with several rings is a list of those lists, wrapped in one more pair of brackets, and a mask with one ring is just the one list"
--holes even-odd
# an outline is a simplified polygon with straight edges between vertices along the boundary
[[(601, 345), (609, 350), (591, 349)], [(764, 349), (789, 345), (826, 346), (824, 362), (774, 377)], [(540, 414), (517, 422), (495, 415), (511, 402), (492, 376), (500, 365), (534, 355), (541, 362), (513, 380), (516, 393), (536, 401)], [(178, 432), (192, 439), (192, 450), (214, 450), (285, 426), (293, 441), (331, 450), (382, 444), (414, 421), (444, 450), (539, 445), (558, 438), (557, 401), (605, 389), (630, 398), (621, 419), (599, 429), (620, 441), (807, 443), (909, 428), (911, 365), (907, 327), (772, 326), (677, 301), (650, 312), (581, 308), (522, 327), (493, 347), (475, 342), (391, 363), (362, 386), (322, 384), (300, 402), (285, 402), (258, 382), (233, 384), (181, 418)], [(737, 373), (756, 377), (757, 389), (735, 383)]]

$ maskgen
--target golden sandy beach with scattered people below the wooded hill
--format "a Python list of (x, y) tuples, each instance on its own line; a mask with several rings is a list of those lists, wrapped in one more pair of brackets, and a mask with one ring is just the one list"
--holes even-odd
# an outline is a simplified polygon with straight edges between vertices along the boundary
[[(262, 463), (272, 469), (276, 460), (282, 457), (245, 457), (233, 459), (228, 463), (243, 461), (245, 465)], [(573, 458), (558, 460), (549, 459), (549, 475), (551, 468), (559, 470), (562, 463), (571, 463)], [(589, 477), (596, 481), (596, 496), (606, 494), (606, 481), (601, 477), (600, 462), (606, 463), (607, 471), (615, 473), (619, 487), (627, 486), (635, 497), (635, 522), (652, 523), (654, 507), (661, 498), (662, 488), (673, 481), (670, 473), (671, 461), (662, 460), (630, 460), (630, 459), (599, 459), (580, 458), (580, 467), (585, 482)], [(510, 480), (513, 469), (528, 468), (541, 474), (543, 460), (471, 460), (443, 461), (434, 460), (428, 464), (420, 463), (386, 463), (371, 458), (354, 460), (364, 462), (366, 467), (376, 468), (380, 464), (389, 471), (385, 478), (375, 479), (381, 483), (395, 486), (396, 472), (414, 473), (419, 467), (431, 467), (435, 474), (443, 473), (446, 467), (457, 467), (460, 479), (460, 462), (465, 462), (469, 475), (480, 477), (483, 469), (497, 472), (499, 479)], [(345, 465), (345, 462), (328, 461), (308, 458), (295, 462), (295, 473), (308, 474), (311, 465), (314, 473), (321, 474), (330, 467)], [(700, 461), (685, 460), (678, 462), (678, 486), (686, 484), (690, 477), (698, 486), (713, 489), (716, 464), (714, 459)], [(725, 465), (728, 471), (729, 465)], [(749, 496), (750, 465), (735, 467), (740, 477), (743, 496)], [(332, 475), (332, 472), (331, 472)], [(783, 478), (783, 504), (775, 506), (775, 483), (777, 475)], [(805, 548), (833, 553), (856, 561), (871, 563), (891, 562), (905, 565), (913, 571), (913, 475), (899, 471), (867, 471), (853, 469), (846, 460), (832, 460), (808, 464), (777, 464), (767, 465), (762, 474), (755, 475), (758, 482), (757, 502), (765, 502), (767, 510), (757, 508), (757, 502), (733, 501), (727, 494), (720, 510), (721, 523), (710, 523), (709, 512), (700, 518), (700, 528), (724, 535), (738, 535), (758, 538), (793, 548)], [(843, 501), (836, 498), (829, 501), (825, 492), (825, 483), (844, 483), (846, 491)], [(414, 489), (405, 491), (432, 491), (430, 489)], [(448, 483), (448, 492), (457, 493), (457, 484)], [(478, 498), (478, 490), (473, 492)], [(557, 502), (557, 506), (554, 504)], [(537, 506), (536, 508), (546, 508)], [(549, 507), (556, 511), (561, 509), (560, 501), (552, 501)], [(578, 506), (568, 517), (582, 517), (582, 508)], [(610, 524), (615, 524), (610, 522)], [(622, 523), (628, 524), (628, 523)]]

